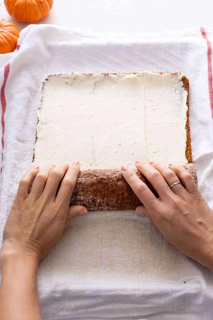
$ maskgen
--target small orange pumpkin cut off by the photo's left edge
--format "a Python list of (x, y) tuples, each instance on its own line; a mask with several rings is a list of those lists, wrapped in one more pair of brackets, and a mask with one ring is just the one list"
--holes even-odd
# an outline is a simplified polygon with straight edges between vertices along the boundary
[(19, 30), (11, 21), (0, 19), (0, 53), (12, 52), (16, 48)]

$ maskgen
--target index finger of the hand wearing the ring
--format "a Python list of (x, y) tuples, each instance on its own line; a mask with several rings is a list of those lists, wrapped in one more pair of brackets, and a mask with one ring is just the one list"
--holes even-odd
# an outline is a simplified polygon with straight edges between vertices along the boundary
[(139, 179), (136, 173), (126, 165), (122, 165), (121, 173), (147, 210), (155, 209), (155, 206), (158, 204), (157, 198), (151, 190), (149, 190), (147, 185)]

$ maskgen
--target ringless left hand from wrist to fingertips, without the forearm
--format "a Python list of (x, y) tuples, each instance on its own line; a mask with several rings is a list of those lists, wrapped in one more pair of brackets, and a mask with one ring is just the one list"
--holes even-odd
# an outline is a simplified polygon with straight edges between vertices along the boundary
[(60, 239), (68, 223), (77, 215), (87, 213), (81, 205), (69, 207), (79, 172), (80, 164), (75, 161), (70, 166), (50, 165), (41, 171), (35, 167), (23, 175), (5, 224), (1, 256), (15, 251), (33, 256), (39, 262)]

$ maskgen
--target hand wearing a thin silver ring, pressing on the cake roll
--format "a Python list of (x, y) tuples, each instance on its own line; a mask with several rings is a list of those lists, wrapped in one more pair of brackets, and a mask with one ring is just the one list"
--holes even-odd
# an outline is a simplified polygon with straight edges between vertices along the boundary
[[(164, 238), (188, 257), (213, 270), (213, 214), (182, 166), (136, 161), (137, 169), (157, 191), (156, 198), (131, 168), (122, 166), (122, 175), (143, 205), (144, 214)], [(169, 187), (180, 181), (184, 184)]]

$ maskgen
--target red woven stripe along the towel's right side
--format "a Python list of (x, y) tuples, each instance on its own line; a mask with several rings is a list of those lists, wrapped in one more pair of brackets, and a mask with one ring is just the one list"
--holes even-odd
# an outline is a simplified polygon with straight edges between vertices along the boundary
[(212, 65), (211, 65), (211, 42), (207, 38), (204, 27), (201, 27), (201, 34), (203, 39), (207, 42), (207, 59), (208, 59), (208, 82), (209, 82), (209, 100), (211, 106), (211, 115), (213, 118), (213, 88), (212, 88)]

